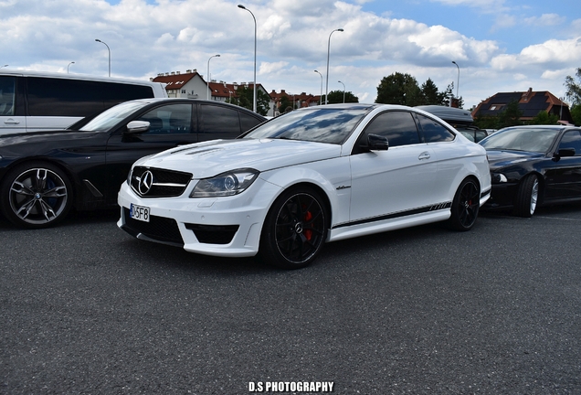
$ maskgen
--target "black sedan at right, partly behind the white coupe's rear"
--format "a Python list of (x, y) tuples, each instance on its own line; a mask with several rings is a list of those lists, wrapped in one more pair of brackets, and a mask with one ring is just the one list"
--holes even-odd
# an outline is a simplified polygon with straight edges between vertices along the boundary
[(531, 217), (539, 205), (581, 200), (581, 128), (514, 126), (480, 142), (491, 166), (484, 208), (512, 208)]

